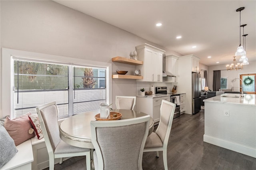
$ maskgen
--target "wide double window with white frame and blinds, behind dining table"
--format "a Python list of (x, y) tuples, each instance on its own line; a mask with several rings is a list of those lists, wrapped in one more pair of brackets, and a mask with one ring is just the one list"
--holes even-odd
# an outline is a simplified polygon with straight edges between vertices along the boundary
[(112, 101), (111, 63), (5, 48), (2, 63), (2, 117), (36, 114), (36, 107), (56, 101), (62, 119)]

